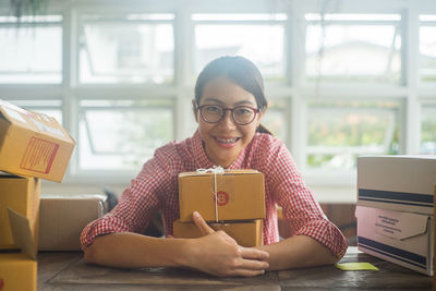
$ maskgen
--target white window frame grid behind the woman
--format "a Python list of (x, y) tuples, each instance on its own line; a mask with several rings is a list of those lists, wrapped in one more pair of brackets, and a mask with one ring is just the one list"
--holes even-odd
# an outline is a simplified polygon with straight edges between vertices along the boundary
[[(0, 4), (0, 14), (10, 15), (8, 1)], [(306, 13), (319, 13), (322, 8), (327, 13), (383, 13), (401, 14), (402, 39), (402, 82), (393, 86), (366, 87), (360, 84), (353, 86), (323, 85), (318, 87), (304, 82), (305, 59), (305, 21)], [(100, 85), (78, 84), (78, 20), (85, 13), (174, 13), (174, 82), (159, 86), (150, 85)], [(329, 100), (332, 98), (350, 100), (352, 98), (377, 98), (379, 100), (398, 100), (403, 106), (401, 116), (401, 154), (416, 154), (420, 148), (420, 108), (422, 104), (434, 104), (436, 100), (436, 84), (419, 81), (419, 15), (436, 14), (434, 0), (397, 1), (367, 0), (364, 3), (352, 1), (268, 1), (241, 0), (238, 2), (223, 0), (219, 2), (192, 1), (118, 1), (77, 0), (50, 2), (48, 13), (61, 14), (62, 20), (62, 84), (59, 85), (0, 85), (0, 98), (5, 100), (56, 99), (61, 101), (63, 125), (71, 135), (78, 136), (78, 104), (82, 99), (111, 99), (123, 96), (129, 99), (144, 96), (165, 96), (174, 101), (174, 140), (182, 140), (192, 134), (194, 123), (191, 99), (193, 84), (190, 80), (193, 68), (194, 25), (191, 15), (194, 13), (286, 13), (286, 68), (287, 80), (283, 83), (267, 83), (267, 96), (271, 99), (284, 99), (288, 125), (287, 141), (296, 165), (303, 169), (303, 174), (312, 185), (352, 185), (355, 183), (355, 171), (329, 172), (311, 171), (305, 167), (305, 141), (307, 101), (314, 98)], [(303, 38), (302, 38), (303, 36)], [(141, 94), (138, 94), (141, 92)], [(192, 120), (191, 123), (186, 120)], [(66, 183), (128, 183), (136, 172), (93, 171), (84, 172), (77, 169), (77, 154), (73, 154)]]

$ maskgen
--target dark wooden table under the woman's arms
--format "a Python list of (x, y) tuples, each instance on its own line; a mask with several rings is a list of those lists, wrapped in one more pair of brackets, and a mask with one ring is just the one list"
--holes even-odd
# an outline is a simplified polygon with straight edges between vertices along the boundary
[(349, 247), (340, 263), (368, 262), (379, 270), (335, 266), (216, 278), (177, 268), (118, 269), (86, 264), (81, 252), (38, 254), (38, 290), (432, 290), (433, 278)]

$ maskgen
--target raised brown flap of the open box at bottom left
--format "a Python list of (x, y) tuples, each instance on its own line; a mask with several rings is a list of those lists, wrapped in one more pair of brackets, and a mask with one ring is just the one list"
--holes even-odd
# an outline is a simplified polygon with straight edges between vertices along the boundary
[(32, 237), (28, 219), (9, 207), (8, 214), (14, 242), (23, 252), (28, 254), (33, 259), (36, 259), (37, 248)]

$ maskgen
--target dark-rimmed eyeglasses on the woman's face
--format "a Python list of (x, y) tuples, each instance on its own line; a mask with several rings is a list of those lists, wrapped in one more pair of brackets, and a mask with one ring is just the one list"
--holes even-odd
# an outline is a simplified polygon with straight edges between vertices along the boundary
[(249, 106), (226, 108), (220, 105), (202, 105), (197, 107), (197, 110), (199, 110), (202, 119), (208, 123), (220, 122), (226, 116), (226, 110), (229, 110), (234, 123), (239, 125), (252, 123), (258, 112), (258, 109)]

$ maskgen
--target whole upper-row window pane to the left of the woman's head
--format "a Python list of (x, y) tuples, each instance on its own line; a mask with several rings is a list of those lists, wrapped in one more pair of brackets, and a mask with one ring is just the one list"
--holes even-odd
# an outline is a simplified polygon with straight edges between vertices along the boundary
[(81, 83), (172, 82), (172, 14), (83, 15)]

